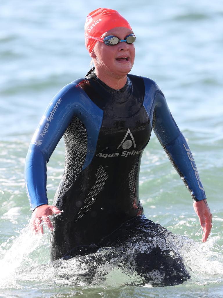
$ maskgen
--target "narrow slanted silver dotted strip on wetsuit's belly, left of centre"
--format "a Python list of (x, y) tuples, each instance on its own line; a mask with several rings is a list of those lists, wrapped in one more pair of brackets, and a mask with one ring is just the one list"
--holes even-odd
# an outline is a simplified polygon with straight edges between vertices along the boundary
[(106, 171), (103, 169), (102, 166), (98, 167), (95, 174), (96, 174), (97, 180), (93, 184), (86, 199), (84, 200), (84, 206), (81, 207), (81, 209), (79, 210), (78, 218), (76, 219), (76, 221), (78, 221), (78, 219), (80, 219), (84, 214), (89, 212), (89, 210), (92, 207), (92, 204), (94, 204), (94, 202), (96, 200), (95, 196), (98, 195), (98, 193), (100, 193), (102, 187), (104, 186), (105, 182), (107, 181), (107, 179), (109, 177), (106, 174)]

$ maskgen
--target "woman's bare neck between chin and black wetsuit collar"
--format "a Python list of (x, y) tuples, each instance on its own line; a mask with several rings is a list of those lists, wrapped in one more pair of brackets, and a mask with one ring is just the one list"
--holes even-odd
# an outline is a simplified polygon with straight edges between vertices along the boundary
[[(125, 86), (125, 83), (127, 81), (127, 75), (123, 76), (116, 76), (111, 73), (106, 74), (105, 72), (100, 72), (98, 69), (95, 68), (95, 75), (107, 86), (109, 86), (112, 89), (119, 90), (122, 89)], [(112, 76), (113, 75), (113, 76)]]

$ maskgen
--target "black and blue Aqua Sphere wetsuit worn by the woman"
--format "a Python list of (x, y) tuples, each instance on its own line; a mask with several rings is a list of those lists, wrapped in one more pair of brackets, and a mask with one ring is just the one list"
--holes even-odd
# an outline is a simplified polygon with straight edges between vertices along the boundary
[(128, 75), (125, 86), (114, 90), (91, 70), (56, 94), (25, 165), (32, 209), (48, 204), (46, 163), (64, 135), (65, 169), (54, 197), (64, 212), (54, 218), (51, 260), (86, 254), (93, 245), (114, 246), (107, 236), (118, 238), (122, 230), (125, 238), (126, 222), (131, 231), (134, 221), (155, 225), (145, 218), (139, 201), (139, 167), (152, 129), (192, 197), (205, 199), (189, 146), (153, 80)]

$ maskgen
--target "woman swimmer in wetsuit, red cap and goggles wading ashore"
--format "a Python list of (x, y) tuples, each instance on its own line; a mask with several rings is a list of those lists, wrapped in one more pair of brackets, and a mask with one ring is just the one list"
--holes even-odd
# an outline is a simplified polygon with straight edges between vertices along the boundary
[[(91, 12), (85, 45), (95, 67), (55, 95), (33, 136), (25, 164), (31, 224), (35, 233), (43, 233), (43, 222), (51, 230), (51, 260), (122, 246), (138, 236), (165, 239), (171, 234), (145, 217), (139, 200), (140, 162), (152, 129), (194, 199), (202, 241), (210, 234), (212, 215), (204, 188), (163, 93), (153, 80), (129, 75), (135, 40), (116, 10)], [(48, 205), (46, 163), (62, 136), (64, 173), (53, 205)], [(52, 223), (53, 214), (61, 215)], [(131, 262), (147, 281), (152, 281), (149, 272), (160, 268), (162, 285), (190, 278), (180, 256), (173, 258), (157, 245)]]

